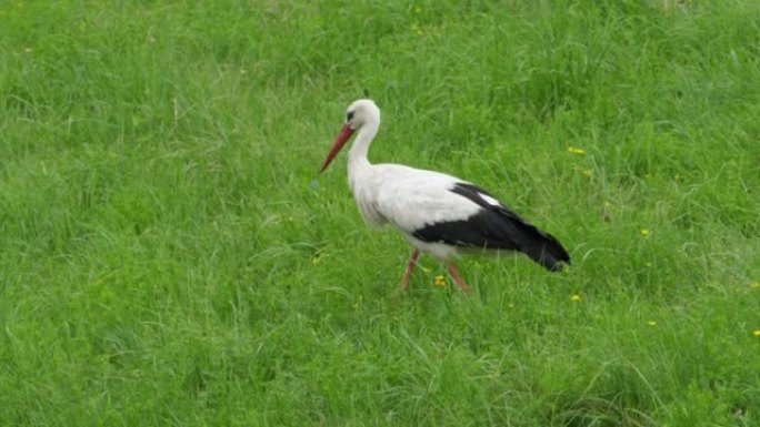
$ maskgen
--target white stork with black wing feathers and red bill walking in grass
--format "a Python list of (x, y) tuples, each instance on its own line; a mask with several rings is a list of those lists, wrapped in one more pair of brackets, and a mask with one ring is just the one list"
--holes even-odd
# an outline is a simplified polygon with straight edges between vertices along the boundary
[(414, 246), (401, 291), (409, 287), (420, 252), (440, 260), (467, 295), (470, 287), (453, 264), (463, 248), (523, 252), (551, 272), (562, 270), (562, 262), (570, 263), (557, 238), (467, 181), (400, 164), (371, 164), (367, 153), (379, 126), (380, 109), (374, 102), (353, 102), (319, 172), (357, 133), (348, 155), (348, 180), (361, 215), (372, 226), (391, 223)]

